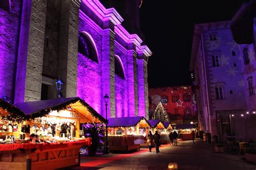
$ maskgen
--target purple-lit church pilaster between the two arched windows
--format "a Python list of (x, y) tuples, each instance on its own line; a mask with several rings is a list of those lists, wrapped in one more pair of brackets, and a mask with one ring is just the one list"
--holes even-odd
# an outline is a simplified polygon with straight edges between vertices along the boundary
[[(111, 29), (102, 31), (102, 105), (105, 105), (103, 96), (110, 97), (107, 108), (107, 118), (116, 117), (116, 101), (114, 88), (114, 32)], [(105, 107), (102, 107), (102, 116), (105, 117)]]

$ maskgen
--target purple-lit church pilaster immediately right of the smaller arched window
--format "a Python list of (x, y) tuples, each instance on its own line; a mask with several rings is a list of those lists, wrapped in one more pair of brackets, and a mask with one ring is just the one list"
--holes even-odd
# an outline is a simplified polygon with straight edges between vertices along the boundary
[(127, 81), (129, 117), (138, 116), (138, 75), (137, 53), (131, 49), (127, 51)]

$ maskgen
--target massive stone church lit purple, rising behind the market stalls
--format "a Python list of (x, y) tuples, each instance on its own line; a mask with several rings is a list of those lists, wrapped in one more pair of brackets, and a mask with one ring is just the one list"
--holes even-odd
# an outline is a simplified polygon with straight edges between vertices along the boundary
[(78, 96), (103, 116), (107, 94), (109, 117), (148, 117), (152, 52), (123, 21), (98, 0), (1, 1), (0, 96), (14, 103), (57, 98), (62, 78), (64, 97)]

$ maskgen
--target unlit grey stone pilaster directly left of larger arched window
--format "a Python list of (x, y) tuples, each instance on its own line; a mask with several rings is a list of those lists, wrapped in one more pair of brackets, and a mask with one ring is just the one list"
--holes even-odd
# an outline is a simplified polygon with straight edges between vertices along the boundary
[(64, 0), (61, 8), (58, 77), (65, 82), (63, 96), (74, 97), (77, 94), (79, 3)]

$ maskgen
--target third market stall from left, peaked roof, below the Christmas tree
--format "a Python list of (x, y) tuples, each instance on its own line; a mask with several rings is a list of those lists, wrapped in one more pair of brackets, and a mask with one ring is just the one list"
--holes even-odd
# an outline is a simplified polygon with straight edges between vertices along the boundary
[(169, 131), (165, 128), (165, 125), (160, 120), (149, 120), (153, 133), (158, 131), (161, 136), (161, 144), (170, 142)]

